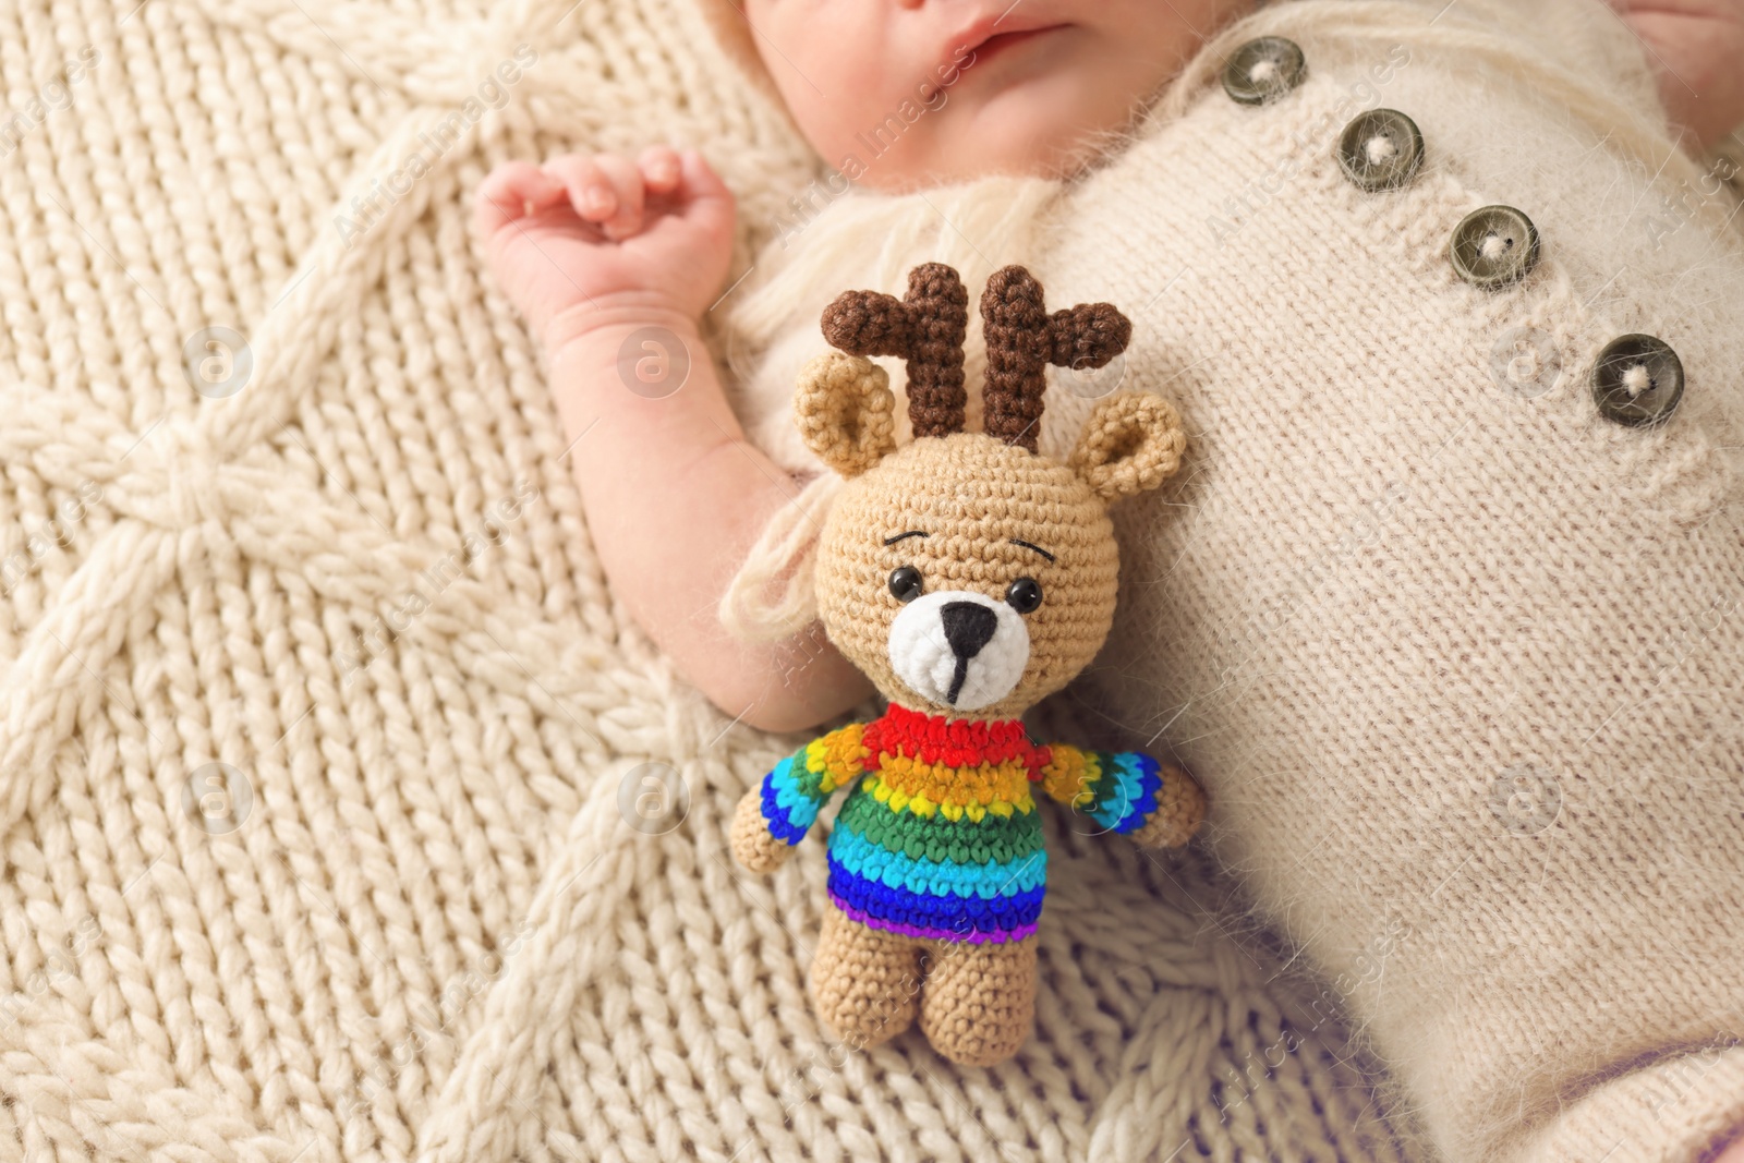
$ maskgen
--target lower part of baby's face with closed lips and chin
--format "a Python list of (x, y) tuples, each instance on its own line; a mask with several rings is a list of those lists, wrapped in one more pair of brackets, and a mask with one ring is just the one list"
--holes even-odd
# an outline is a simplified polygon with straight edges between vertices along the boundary
[[(788, 112), (877, 190), (1064, 176), (1254, 0), (745, 0)], [(849, 162), (849, 155), (855, 162)], [(860, 173), (856, 173), (860, 171)]]

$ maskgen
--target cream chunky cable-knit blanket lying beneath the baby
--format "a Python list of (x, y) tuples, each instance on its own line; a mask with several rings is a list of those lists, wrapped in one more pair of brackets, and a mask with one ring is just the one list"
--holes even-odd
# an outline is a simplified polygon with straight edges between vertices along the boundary
[(0, 1158), (1406, 1158), (1196, 856), (1064, 821), (1017, 1060), (814, 1024), (821, 846), (726, 854), (799, 739), (614, 605), (466, 230), (670, 138), (748, 270), (814, 159), (706, 19), (0, 5)]

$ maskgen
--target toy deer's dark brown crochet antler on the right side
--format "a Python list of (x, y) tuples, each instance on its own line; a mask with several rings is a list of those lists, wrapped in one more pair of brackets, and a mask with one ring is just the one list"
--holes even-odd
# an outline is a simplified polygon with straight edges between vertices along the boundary
[(1022, 267), (1001, 267), (982, 293), (987, 382), (982, 429), (1036, 452), (1048, 364), (1100, 368), (1127, 350), (1132, 321), (1113, 303), (1078, 303), (1052, 316), (1041, 284)]

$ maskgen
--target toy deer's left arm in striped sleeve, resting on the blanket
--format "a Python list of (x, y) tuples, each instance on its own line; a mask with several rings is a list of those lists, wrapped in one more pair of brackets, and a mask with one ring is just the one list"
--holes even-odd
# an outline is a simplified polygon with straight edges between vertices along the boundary
[(745, 793), (732, 814), (732, 858), (771, 872), (806, 839), (818, 809), (865, 774), (862, 724), (848, 724), (799, 748)]

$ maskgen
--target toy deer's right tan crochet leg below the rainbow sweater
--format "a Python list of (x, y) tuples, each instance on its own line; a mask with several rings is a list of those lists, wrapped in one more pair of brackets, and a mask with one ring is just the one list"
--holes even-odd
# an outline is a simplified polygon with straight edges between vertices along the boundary
[(1036, 1017), (1036, 938), (973, 945), (930, 942), (921, 1030), (963, 1065), (1005, 1062)]

